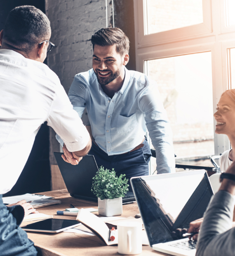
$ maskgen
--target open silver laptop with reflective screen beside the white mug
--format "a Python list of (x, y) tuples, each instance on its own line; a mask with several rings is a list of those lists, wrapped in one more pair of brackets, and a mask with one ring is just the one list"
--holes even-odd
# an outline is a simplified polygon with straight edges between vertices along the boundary
[(134, 177), (131, 184), (150, 247), (171, 255), (195, 256), (196, 242), (177, 239), (174, 232), (202, 218), (213, 195), (206, 171)]

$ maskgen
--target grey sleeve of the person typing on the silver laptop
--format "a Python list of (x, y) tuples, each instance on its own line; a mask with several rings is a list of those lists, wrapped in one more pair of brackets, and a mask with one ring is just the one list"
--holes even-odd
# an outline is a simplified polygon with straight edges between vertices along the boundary
[(235, 228), (232, 228), (233, 196), (217, 192), (211, 200), (200, 228), (196, 256), (234, 256)]

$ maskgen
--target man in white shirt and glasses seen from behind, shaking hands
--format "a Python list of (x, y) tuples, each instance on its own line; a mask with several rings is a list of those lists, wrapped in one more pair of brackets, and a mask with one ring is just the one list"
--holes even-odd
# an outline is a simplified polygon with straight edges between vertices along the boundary
[(53, 45), (50, 36), (49, 19), (33, 6), (13, 9), (0, 32), (1, 256), (37, 255), (33, 242), (19, 227), (23, 217), (35, 210), (26, 201), (7, 207), (2, 194), (19, 178), (41, 124), (47, 122), (63, 138), (73, 164), (91, 147), (89, 133), (58, 76), (43, 64)]

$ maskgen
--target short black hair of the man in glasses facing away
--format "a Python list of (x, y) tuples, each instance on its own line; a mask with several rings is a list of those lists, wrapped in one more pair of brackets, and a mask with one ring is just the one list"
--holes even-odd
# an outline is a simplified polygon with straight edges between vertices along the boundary
[(51, 27), (47, 16), (34, 6), (24, 5), (9, 12), (2, 43), (28, 53), (50, 36)]

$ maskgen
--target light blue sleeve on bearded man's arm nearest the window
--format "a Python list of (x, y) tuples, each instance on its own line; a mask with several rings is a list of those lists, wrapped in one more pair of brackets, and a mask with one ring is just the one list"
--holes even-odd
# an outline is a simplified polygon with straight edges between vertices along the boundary
[(175, 172), (172, 129), (160, 100), (156, 83), (147, 86), (139, 97), (139, 107), (145, 114), (146, 126), (156, 150), (157, 173)]

